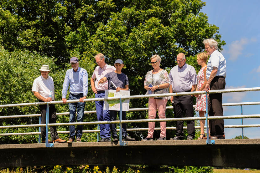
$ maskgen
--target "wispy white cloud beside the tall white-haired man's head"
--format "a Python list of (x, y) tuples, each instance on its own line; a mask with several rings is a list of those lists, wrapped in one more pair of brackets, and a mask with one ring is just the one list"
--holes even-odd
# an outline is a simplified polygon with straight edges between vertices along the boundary
[(244, 49), (244, 45), (248, 44), (249, 40), (247, 38), (241, 38), (241, 40), (232, 41), (229, 46), (229, 50), (227, 53), (230, 54), (230, 60), (236, 61), (238, 56), (242, 54), (242, 50)]

